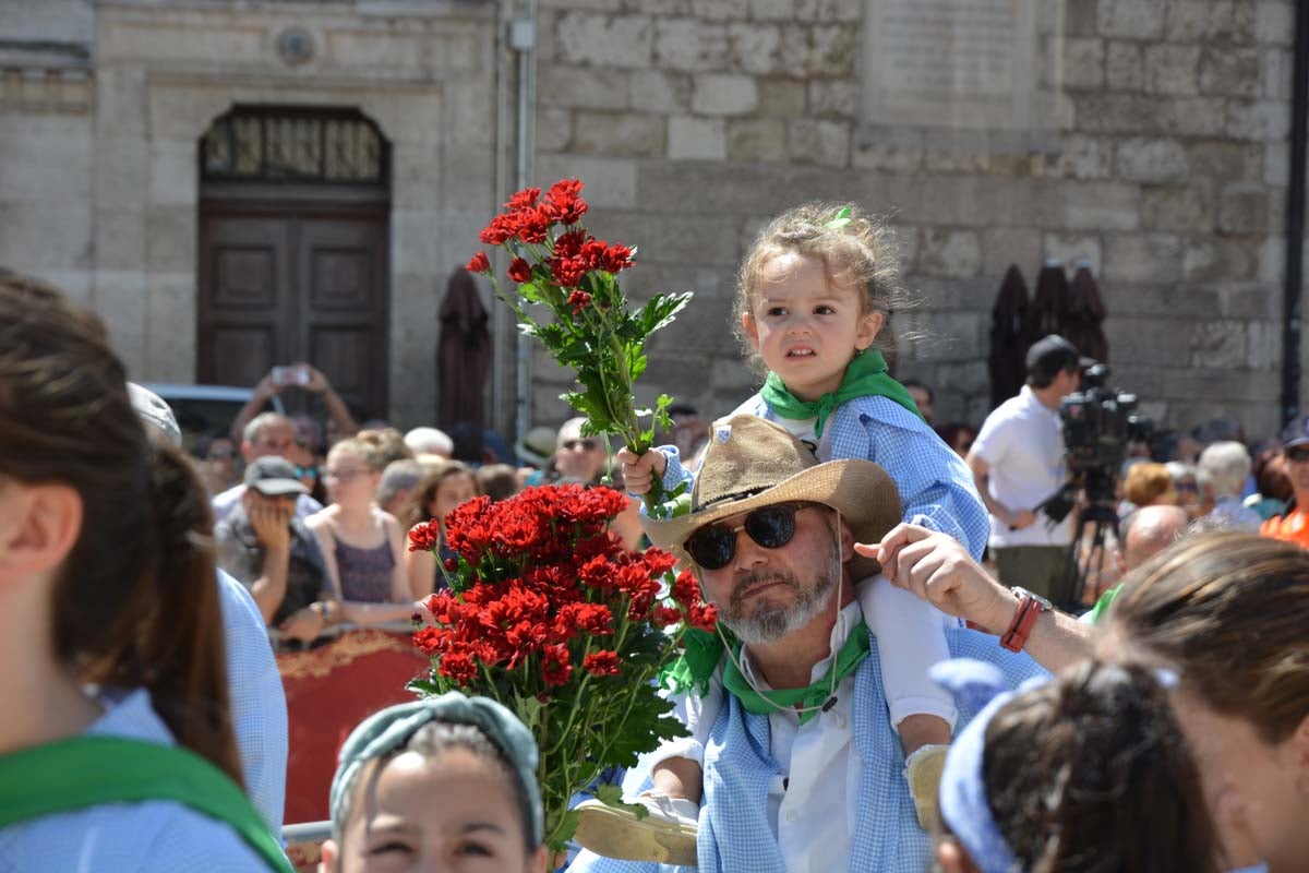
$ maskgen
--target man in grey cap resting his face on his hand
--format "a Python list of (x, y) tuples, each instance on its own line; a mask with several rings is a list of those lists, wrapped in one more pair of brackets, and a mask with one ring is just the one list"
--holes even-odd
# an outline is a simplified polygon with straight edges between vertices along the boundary
[(296, 517), (308, 488), (285, 458), (257, 458), (241, 504), (213, 527), (219, 565), (254, 594), (264, 622), (285, 639), (312, 641), (340, 618), (318, 542)]

